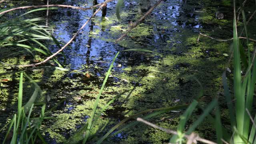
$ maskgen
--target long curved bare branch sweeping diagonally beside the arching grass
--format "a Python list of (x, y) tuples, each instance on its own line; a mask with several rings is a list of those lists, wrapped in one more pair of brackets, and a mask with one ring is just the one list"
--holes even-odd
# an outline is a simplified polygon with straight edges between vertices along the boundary
[(40, 64), (44, 64), (46, 63), (48, 60), (50, 60), (51, 58), (53, 58), (54, 56), (56, 56), (58, 53), (60, 53), (62, 50), (64, 50), (64, 48), (66, 48), (75, 38), (76, 36), (78, 36), (79, 32), (88, 24), (88, 22), (100, 11), (100, 9), (104, 6), (104, 4), (102, 4), (100, 6), (100, 8), (98, 8), (98, 10), (96, 10), (96, 12), (94, 12), (94, 14), (84, 23), (84, 25), (76, 32), (76, 34), (64, 45), (62, 46), (62, 48), (60, 50), (58, 50), (57, 52), (55, 52), (54, 54), (52, 54), (51, 56), (49, 56), (48, 58), (46, 58), (45, 60), (43, 60), (42, 62), (38, 62), (36, 64), (27, 64), (27, 65), (12, 65), (14, 67), (29, 67), (29, 66), (38, 66)]

